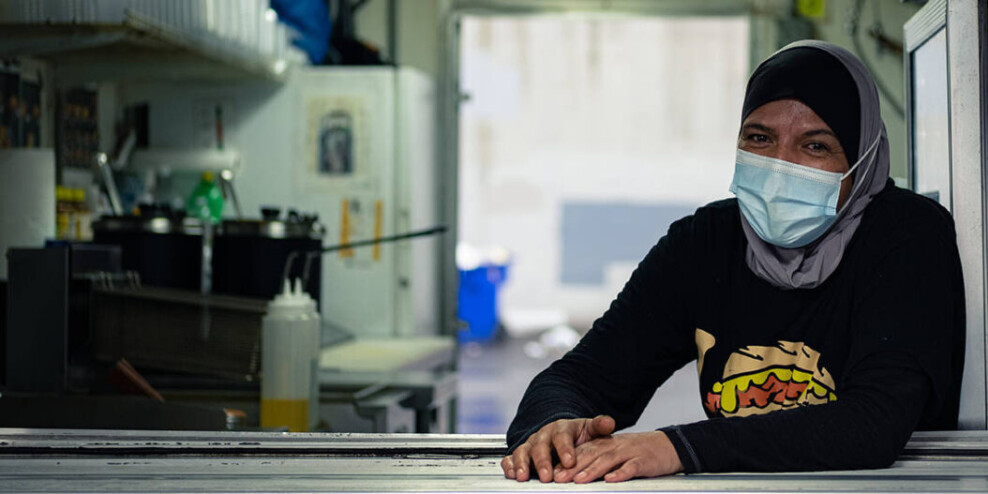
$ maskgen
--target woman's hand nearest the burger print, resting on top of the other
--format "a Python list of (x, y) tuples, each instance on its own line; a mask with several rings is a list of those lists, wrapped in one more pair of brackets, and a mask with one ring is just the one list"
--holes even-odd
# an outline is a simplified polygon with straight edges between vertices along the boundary
[(623, 482), (681, 472), (676, 448), (664, 432), (621, 434), (588, 441), (576, 448), (576, 465), (557, 466), (556, 482), (584, 484), (599, 479)]

